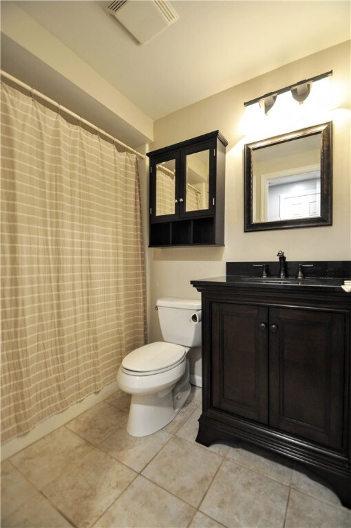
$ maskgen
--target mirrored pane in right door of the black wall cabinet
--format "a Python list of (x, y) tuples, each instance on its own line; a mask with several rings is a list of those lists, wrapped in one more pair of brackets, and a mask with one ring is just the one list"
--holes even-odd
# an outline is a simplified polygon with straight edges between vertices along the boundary
[(209, 208), (209, 150), (189, 154), (186, 164), (185, 210)]

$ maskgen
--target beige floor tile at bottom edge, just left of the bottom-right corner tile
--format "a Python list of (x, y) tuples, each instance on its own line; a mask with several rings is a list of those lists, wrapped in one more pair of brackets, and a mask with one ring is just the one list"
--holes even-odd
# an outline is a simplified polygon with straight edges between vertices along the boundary
[(200, 511), (231, 528), (281, 528), (288, 491), (284, 484), (224, 460)]

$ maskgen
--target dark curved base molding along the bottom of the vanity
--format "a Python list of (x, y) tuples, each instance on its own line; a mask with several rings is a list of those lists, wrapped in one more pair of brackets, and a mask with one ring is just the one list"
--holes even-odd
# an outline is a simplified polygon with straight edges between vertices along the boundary
[(219, 410), (209, 409), (202, 413), (196, 437), (198, 443), (209, 447), (218, 441), (235, 440), (281, 454), (306, 466), (330, 486), (343, 506), (351, 508), (351, 467), (343, 454)]

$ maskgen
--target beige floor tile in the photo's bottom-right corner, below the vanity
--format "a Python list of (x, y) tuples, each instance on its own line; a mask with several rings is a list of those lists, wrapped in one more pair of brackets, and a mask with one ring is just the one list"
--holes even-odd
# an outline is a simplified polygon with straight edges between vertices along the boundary
[(351, 510), (291, 489), (286, 528), (350, 528)]

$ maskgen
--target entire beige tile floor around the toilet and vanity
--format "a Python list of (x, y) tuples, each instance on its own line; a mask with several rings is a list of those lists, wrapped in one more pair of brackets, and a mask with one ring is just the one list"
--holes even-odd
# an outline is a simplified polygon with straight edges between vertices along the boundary
[(125, 431), (115, 393), (1, 465), (1, 527), (351, 527), (351, 510), (293, 463), (195, 443), (201, 390), (167, 427)]

